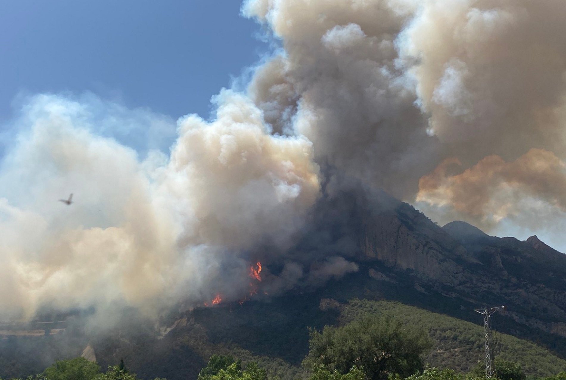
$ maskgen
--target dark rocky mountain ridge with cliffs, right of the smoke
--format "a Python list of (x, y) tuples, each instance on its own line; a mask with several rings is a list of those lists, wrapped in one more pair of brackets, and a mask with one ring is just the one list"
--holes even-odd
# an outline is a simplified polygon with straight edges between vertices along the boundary
[(566, 255), (536, 236), (492, 237), (464, 222), (439, 227), (407, 204), (366, 218), (360, 230), (360, 260), (409, 271), (417, 286), (454, 301), (504, 304), (517, 325), (566, 336)]

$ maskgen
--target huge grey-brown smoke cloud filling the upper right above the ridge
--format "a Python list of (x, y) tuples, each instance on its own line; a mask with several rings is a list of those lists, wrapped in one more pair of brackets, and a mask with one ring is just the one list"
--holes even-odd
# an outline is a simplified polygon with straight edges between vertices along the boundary
[[(273, 79), (261, 72), (261, 83), (277, 85), (255, 101), (264, 107), (293, 99), (294, 131), (313, 142), (316, 161), (418, 200), (442, 223), (459, 218), (498, 231), (512, 219), (532, 233), (533, 215), (562, 218), (549, 201), (562, 198), (562, 188), (529, 183), (540, 169), (532, 165), (533, 175), (508, 172), (497, 189), (490, 180), (474, 182), (489, 207), (462, 208), (445, 182), (437, 189), (417, 184), (447, 159), (460, 162), (457, 178), (493, 155), (528, 165), (531, 149), (543, 149), (543, 168), (564, 159), (563, 2), (249, 0), (243, 11), (268, 24), (285, 47)], [(551, 176), (562, 173), (546, 183)], [(510, 206), (505, 186), (530, 190), (514, 191)]]

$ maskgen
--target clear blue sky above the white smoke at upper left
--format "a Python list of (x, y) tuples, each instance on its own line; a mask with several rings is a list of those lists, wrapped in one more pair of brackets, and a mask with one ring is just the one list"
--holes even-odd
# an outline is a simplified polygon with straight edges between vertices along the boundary
[(0, 120), (18, 97), (92, 92), (129, 108), (207, 117), (210, 98), (258, 61), (260, 26), (235, 0), (0, 3)]

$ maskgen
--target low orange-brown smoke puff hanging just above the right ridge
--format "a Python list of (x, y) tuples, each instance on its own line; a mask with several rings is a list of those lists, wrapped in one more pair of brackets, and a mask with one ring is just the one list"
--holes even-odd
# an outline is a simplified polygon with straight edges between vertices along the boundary
[[(419, 181), (417, 202), (451, 205), (457, 214), (476, 224), (494, 225), (511, 218), (531, 227), (552, 224), (552, 219), (531, 218), (532, 211), (566, 211), (566, 165), (554, 153), (531, 149), (513, 162), (492, 155), (459, 174), (448, 174), (458, 161), (444, 161)], [(531, 212), (525, 212), (525, 211)], [(563, 216), (563, 215), (562, 215)], [(524, 218), (524, 219), (523, 219)]]

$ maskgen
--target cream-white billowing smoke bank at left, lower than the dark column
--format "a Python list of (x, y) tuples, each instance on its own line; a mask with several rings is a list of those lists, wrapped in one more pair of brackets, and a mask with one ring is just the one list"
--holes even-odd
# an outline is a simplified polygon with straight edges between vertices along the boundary
[[(179, 120), (170, 157), (139, 161), (89, 131), (79, 103), (31, 100), (20, 122), (32, 124), (0, 176), (0, 309), (196, 302), (215, 291), (223, 262), (245, 278), (242, 252), (285, 248), (319, 193), (311, 143), (266, 133), (246, 97), (226, 91), (217, 102), (210, 123)], [(70, 191), (74, 204), (57, 202)]]

